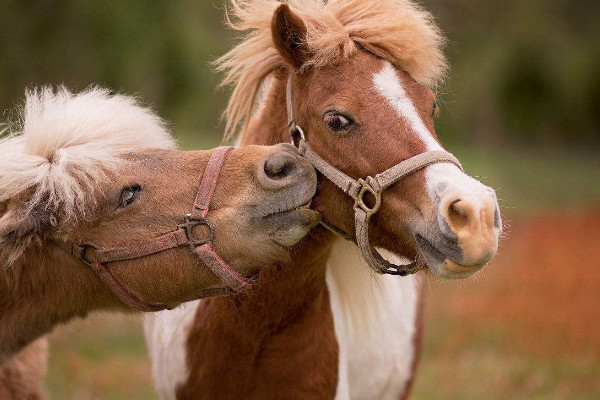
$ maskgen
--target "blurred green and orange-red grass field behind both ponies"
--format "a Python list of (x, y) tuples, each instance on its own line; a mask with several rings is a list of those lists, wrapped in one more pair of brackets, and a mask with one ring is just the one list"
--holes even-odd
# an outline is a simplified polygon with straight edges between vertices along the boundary
[[(600, 161), (452, 150), (498, 190), (508, 221), (482, 274), (430, 280), (413, 398), (600, 398)], [(57, 329), (47, 386), (53, 399), (156, 398), (140, 317)]]

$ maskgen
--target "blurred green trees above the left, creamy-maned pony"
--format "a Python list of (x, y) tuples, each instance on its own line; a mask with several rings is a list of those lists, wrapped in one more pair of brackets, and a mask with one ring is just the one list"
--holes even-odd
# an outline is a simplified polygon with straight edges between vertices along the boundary
[[(219, 140), (226, 93), (210, 62), (232, 44), (206, 1), (1, 0), (0, 108), (24, 88), (105, 85), (140, 95), (185, 138)], [(204, 144), (206, 140), (191, 140)]]

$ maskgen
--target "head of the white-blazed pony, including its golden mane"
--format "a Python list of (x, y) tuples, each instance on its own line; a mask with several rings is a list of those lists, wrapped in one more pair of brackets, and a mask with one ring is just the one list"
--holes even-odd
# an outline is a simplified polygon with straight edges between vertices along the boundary
[[(232, 26), (251, 32), (219, 61), (228, 72), (225, 83), (235, 85), (226, 111), (230, 131), (244, 118), (249, 121), (256, 94), (271, 82), (264, 107), (279, 105), (272, 117), (280, 126), (277, 140), (289, 140), (285, 82), (291, 76), (295, 120), (307, 142), (352, 178), (442, 150), (433, 90), (446, 71), (444, 40), (419, 6), (408, 0), (233, 5)], [(265, 128), (250, 123), (246, 137), (261, 136)], [(323, 177), (320, 187), (314, 207), (325, 221), (353, 234), (353, 200)], [(496, 253), (500, 233), (494, 191), (446, 163), (387, 189), (370, 227), (373, 245), (418, 259), (447, 278), (484, 266)]]

